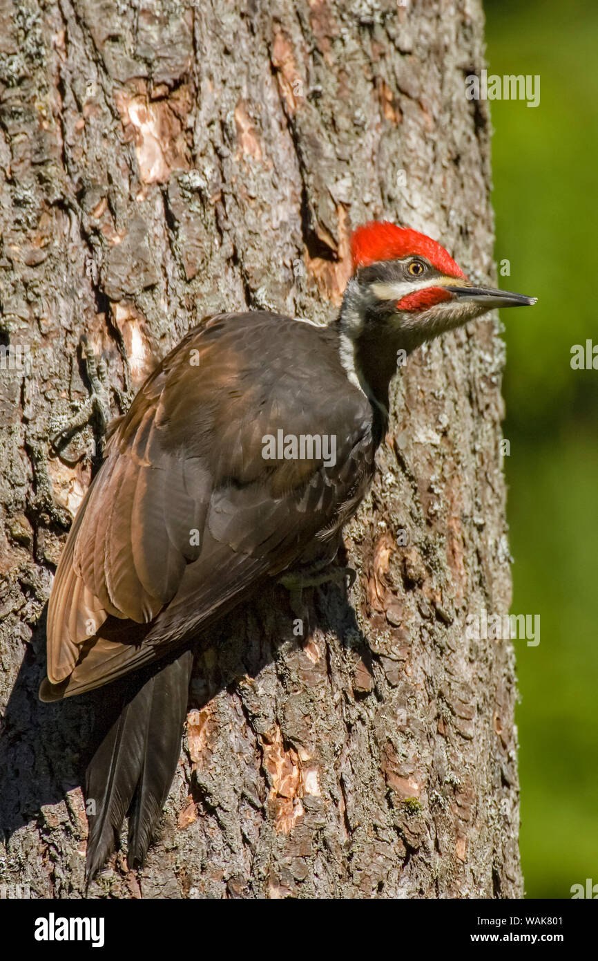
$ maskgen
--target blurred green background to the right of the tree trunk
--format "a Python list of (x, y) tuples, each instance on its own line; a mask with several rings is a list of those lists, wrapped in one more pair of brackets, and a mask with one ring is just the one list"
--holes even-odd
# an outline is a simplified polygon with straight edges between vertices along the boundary
[[(598, 370), (571, 347), (596, 323), (598, 4), (485, 0), (489, 74), (539, 74), (540, 103), (490, 102), (500, 285), (538, 305), (505, 311), (505, 457), (515, 641), (521, 857), (526, 896), (598, 883)], [(596, 360), (598, 366), (598, 358)]]

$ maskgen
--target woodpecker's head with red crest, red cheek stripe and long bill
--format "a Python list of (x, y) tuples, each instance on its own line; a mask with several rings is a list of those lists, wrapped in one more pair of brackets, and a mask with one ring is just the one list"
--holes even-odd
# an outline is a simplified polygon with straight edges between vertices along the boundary
[(409, 353), (492, 308), (536, 303), (470, 283), (436, 240), (388, 222), (358, 228), (351, 252), (353, 276), (341, 310), (341, 328), (351, 340)]

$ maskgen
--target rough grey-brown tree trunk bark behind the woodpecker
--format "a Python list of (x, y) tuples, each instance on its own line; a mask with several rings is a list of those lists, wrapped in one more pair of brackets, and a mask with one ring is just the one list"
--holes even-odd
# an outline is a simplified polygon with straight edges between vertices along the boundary
[[(103, 410), (210, 312), (329, 320), (364, 220), (493, 279), (489, 118), (465, 97), (483, 17), (477, 0), (0, 10), (2, 342), (29, 351), (0, 371), (0, 892), (70, 898), (102, 692), (36, 691)], [(82, 333), (108, 366), (91, 410)], [(410, 357), (347, 529), (354, 587), (313, 593), (304, 644), (275, 587), (204, 640), (161, 835), (143, 873), (119, 853), (90, 896), (521, 894), (513, 650), (465, 633), (510, 602), (502, 363), (488, 318)]]

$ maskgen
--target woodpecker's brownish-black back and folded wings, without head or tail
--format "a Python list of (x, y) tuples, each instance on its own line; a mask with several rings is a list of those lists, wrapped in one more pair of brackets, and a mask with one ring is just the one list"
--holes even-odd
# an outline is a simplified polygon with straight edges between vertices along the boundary
[[(143, 386), (60, 558), (43, 698), (162, 656), (335, 532), (371, 469), (371, 411), (357, 390), (347, 405), (331, 335), (304, 327), (274, 314), (213, 318)], [(324, 409), (314, 369), (327, 379)], [(337, 464), (265, 461), (262, 439), (278, 427), (335, 433)]]

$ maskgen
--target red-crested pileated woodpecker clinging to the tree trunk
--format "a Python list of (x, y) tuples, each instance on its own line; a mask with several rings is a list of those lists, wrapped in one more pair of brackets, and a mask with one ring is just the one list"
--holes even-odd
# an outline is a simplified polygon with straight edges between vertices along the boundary
[(88, 877), (127, 813), (129, 865), (143, 864), (179, 758), (193, 639), (265, 580), (335, 556), (386, 431), (397, 352), (535, 303), (475, 286), (439, 243), (391, 223), (359, 228), (352, 257), (330, 326), (211, 317), (111, 428), (60, 557), (39, 696), (161, 670), (135, 676), (87, 769)]

